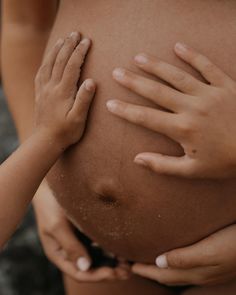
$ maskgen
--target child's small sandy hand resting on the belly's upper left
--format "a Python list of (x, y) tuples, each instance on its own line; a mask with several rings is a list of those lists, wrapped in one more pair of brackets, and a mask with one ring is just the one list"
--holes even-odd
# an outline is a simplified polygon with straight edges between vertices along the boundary
[(79, 41), (80, 35), (76, 32), (65, 40), (58, 40), (35, 79), (36, 128), (43, 130), (62, 149), (81, 138), (95, 93), (91, 79), (79, 90), (77, 87), (90, 47), (89, 39)]

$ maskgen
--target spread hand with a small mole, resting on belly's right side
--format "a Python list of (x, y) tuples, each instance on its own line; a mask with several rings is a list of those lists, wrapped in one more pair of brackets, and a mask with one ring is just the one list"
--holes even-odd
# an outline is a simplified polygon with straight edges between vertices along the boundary
[(137, 164), (157, 173), (197, 178), (236, 175), (236, 83), (205, 56), (183, 44), (176, 54), (198, 70), (203, 83), (179, 68), (154, 57), (136, 56), (136, 65), (161, 78), (173, 88), (124, 69), (114, 78), (131, 91), (168, 111), (112, 100), (108, 109), (132, 123), (165, 134), (179, 142), (184, 156), (141, 153)]

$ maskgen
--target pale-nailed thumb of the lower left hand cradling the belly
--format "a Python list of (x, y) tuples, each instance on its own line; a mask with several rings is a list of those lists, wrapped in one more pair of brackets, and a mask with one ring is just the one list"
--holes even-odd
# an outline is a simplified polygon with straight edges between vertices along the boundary
[(74, 261), (80, 271), (88, 271), (92, 261), (86, 248), (76, 237), (73, 227), (66, 220), (59, 231), (56, 233), (56, 239), (66, 253), (67, 259)]

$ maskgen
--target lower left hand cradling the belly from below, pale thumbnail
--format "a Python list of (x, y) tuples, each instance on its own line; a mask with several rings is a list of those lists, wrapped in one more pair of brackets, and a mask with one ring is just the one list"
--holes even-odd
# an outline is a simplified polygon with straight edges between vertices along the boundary
[(91, 258), (77, 239), (72, 224), (58, 205), (46, 181), (35, 196), (34, 208), (44, 251), (49, 260), (63, 273), (83, 282), (128, 278), (128, 271), (123, 265), (115, 269), (90, 269)]

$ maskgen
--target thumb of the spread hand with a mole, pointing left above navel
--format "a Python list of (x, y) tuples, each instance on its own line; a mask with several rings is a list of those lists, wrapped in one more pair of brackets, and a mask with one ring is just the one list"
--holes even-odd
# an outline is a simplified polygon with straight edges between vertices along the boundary
[(134, 162), (159, 174), (188, 178), (194, 176), (194, 160), (187, 156), (171, 157), (158, 153), (142, 153), (136, 156)]

